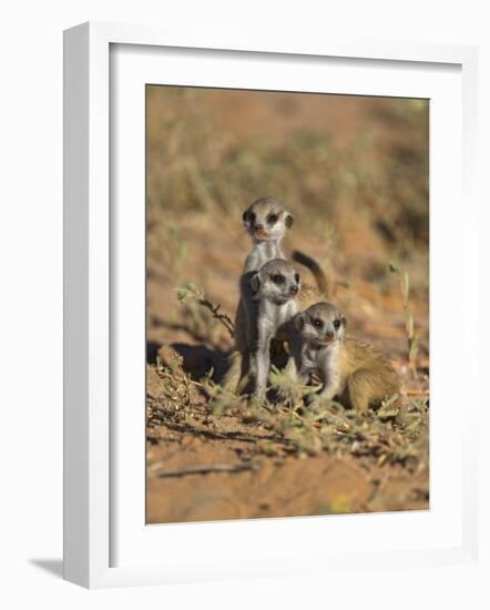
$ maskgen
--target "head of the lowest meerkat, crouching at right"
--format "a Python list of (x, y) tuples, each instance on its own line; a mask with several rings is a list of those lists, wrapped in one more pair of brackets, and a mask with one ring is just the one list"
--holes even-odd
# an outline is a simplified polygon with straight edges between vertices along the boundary
[(320, 347), (340, 339), (347, 321), (330, 303), (315, 303), (296, 316), (295, 326), (304, 340)]

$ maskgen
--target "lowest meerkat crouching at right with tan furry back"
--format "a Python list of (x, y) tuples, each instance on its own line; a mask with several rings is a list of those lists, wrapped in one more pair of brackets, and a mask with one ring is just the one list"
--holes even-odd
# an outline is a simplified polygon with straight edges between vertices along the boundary
[[(287, 369), (308, 385), (312, 375), (323, 383), (319, 397), (337, 397), (346, 406), (365, 411), (400, 385), (389, 360), (370, 345), (346, 337), (346, 318), (330, 303), (316, 303), (298, 313), (288, 326), (290, 359)], [(315, 395), (309, 395), (309, 400)]]

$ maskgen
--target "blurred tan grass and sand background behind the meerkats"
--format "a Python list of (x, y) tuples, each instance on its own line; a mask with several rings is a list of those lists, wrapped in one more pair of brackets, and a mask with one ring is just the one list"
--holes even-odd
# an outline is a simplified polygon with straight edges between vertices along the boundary
[(149, 362), (174, 344), (197, 373), (221, 370), (226, 329), (175, 291), (195, 282), (233, 317), (251, 248), (242, 213), (265, 195), (295, 217), (285, 252), (317, 258), (350, 334), (395, 359), (407, 352), (400, 265), (428, 355), (428, 101), (152, 85), (146, 162)]

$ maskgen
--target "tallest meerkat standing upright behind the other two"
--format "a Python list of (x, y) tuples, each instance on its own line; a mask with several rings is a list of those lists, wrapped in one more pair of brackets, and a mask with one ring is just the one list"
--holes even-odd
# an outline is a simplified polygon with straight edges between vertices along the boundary
[[(292, 214), (273, 197), (262, 197), (252, 203), (242, 215), (243, 225), (249, 234), (253, 248), (245, 260), (239, 278), (239, 301), (235, 315), (235, 352), (224, 377), (225, 388), (236, 389), (249, 369), (248, 336), (254, 332), (255, 304), (251, 278), (268, 261), (285, 260), (280, 242), (293, 225)], [(244, 354), (246, 355), (244, 357)]]

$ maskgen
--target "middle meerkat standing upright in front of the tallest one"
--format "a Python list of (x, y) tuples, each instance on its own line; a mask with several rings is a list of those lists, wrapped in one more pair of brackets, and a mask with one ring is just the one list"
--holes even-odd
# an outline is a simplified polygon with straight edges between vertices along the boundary
[(243, 346), (244, 367), (239, 388), (255, 378), (255, 395), (264, 398), (270, 368), (270, 344), (277, 329), (298, 311), (295, 301), (300, 289), (300, 277), (293, 265), (282, 258), (268, 261), (249, 279), (249, 332)]

